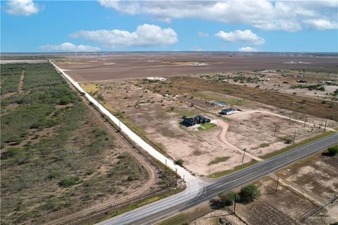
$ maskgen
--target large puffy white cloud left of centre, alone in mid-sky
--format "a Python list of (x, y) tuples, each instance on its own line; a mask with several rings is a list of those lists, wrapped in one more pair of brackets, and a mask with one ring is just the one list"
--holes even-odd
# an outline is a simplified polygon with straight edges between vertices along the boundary
[(80, 30), (70, 34), (70, 37), (96, 41), (110, 48), (168, 46), (177, 42), (175, 30), (149, 24), (137, 26), (137, 30), (134, 32), (126, 30)]

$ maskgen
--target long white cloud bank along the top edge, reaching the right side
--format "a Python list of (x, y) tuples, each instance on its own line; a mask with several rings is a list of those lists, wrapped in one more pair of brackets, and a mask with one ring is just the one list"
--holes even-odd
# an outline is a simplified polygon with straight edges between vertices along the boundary
[(99, 0), (106, 8), (130, 15), (147, 14), (162, 21), (199, 18), (222, 23), (246, 24), (261, 30), (297, 32), (303, 20), (337, 20), (338, 1), (111, 1)]

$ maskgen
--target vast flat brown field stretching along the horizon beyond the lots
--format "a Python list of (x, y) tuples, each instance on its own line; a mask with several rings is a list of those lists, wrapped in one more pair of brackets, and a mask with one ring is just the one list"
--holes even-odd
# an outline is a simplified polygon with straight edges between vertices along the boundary
[[(287, 63), (290, 60), (307, 64)], [(65, 56), (56, 65), (77, 82), (149, 76), (193, 75), (261, 69), (320, 68), (337, 71), (337, 58), (311, 55), (243, 53), (127, 53)], [(208, 65), (192, 66), (193, 62)]]

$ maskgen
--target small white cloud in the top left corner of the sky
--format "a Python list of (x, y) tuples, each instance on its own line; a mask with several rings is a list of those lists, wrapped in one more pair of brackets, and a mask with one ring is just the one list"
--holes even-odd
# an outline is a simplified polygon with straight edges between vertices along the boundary
[(6, 13), (10, 15), (33, 15), (42, 11), (43, 7), (35, 4), (32, 0), (9, 0)]

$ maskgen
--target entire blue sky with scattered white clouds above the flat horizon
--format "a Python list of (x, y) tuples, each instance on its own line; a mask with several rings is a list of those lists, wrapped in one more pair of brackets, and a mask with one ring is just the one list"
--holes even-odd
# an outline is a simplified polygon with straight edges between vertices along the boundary
[(337, 29), (337, 1), (1, 1), (1, 52), (337, 52)]

